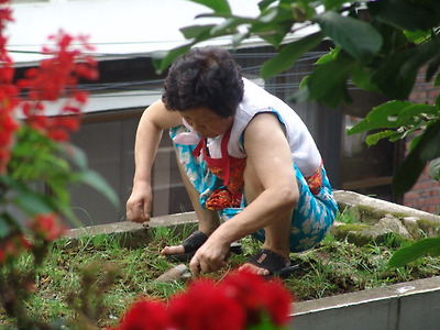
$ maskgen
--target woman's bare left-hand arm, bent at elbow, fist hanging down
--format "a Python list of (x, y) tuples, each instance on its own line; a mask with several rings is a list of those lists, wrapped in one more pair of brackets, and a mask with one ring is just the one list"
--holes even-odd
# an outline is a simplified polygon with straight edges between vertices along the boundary
[(162, 132), (182, 124), (178, 111), (169, 111), (158, 100), (145, 109), (138, 125), (134, 145), (135, 172), (133, 189), (127, 201), (127, 219), (133, 222), (150, 220), (152, 208), (151, 175)]

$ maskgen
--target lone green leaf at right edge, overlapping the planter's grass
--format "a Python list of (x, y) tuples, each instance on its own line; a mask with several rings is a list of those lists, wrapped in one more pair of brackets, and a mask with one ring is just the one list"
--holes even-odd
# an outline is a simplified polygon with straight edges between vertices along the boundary
[(427, 254), (432, 256), (440, 255), (440, 237), (425, 239), (410, 246), (402, 248), (393, 254), (388, 266), (403, 267)]

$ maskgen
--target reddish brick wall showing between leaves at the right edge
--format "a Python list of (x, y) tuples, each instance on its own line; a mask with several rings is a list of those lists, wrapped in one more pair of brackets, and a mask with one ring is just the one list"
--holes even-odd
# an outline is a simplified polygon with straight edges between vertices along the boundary
[[(425, 70), (421, 70), (409, 100), (417, 103), (427, 102), (428, 105), (433, 105), (439, 95), (440, 88), (435, 88), (432, 81), (425, 82)], [(411, 190), (404, 195), (403, 205), (440, 215), (440, 183), (430, 177), (428, 166), (421, 173)]]

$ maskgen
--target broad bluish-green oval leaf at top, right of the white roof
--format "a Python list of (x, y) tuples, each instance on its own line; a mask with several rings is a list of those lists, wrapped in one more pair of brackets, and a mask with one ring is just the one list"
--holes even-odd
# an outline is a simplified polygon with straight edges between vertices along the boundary
[(361, 20), (328, 11), (316, 21), (326, 35), (358, 61), (367, 61), (381, 50), (381, 34)]

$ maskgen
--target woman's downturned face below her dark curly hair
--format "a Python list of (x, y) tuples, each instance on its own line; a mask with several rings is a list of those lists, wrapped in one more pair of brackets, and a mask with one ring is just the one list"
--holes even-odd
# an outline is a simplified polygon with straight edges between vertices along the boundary
[(217, 138), (233, 123), (233, 116), (222, 118), (206, 107), (180, 111), (180, 114), (204, 138)]

